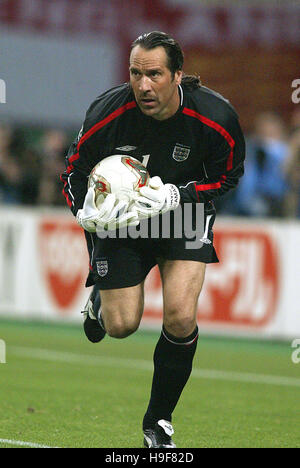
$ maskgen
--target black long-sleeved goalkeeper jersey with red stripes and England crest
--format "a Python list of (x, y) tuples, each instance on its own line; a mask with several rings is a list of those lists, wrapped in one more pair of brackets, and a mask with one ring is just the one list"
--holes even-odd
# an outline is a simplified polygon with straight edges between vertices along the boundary
[(162, 121), (142, 113), (127, 83), (92, 103), (61, 175), (74, 215), (83, 206), (91, 170), (113, 154), (146, 159), (151, 177), (179, 188), (181, 203), (207, 203), (237, 185), (245, 142), (234, 108), (205, 86), (183, 84), (179, 94), (176, 114)]

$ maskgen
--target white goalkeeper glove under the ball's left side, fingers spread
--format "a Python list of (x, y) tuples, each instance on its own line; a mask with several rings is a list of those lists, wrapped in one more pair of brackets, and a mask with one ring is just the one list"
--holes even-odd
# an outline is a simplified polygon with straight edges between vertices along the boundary
[(129, 203), (125, 200), (116, 201), (114, 194), (108, 194), (104, 202), (96, 207), (95, 191), (90, 187), (87, 191), (83, 208), (78, 210), (76, 220), (79, 226), (88, 232), (114, 231), (126, 226), (137, 226), (137, 213), (127, 212)]

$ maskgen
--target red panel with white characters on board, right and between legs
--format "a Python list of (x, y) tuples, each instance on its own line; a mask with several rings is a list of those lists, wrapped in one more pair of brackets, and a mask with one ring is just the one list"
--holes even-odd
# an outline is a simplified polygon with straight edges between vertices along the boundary
[[(198, 322), (263, 327), (272, 321), (279, 295), (278, 251), (272, 236), (259, 229), (222, 229), (214, 241), (220, 263), (207, 266)], [(161, 320), (158, 269), (146, 283), (144, 317)]]

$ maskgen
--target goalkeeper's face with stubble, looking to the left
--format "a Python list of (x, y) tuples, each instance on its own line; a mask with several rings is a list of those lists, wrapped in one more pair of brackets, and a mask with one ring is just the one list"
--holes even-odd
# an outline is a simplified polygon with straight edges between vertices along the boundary
[(163, 47), (146, 50), (135, 46), (130, 54), (130, 84), (141, 111), (157, 120), (171, 117), (179, 107), (178, 85), (182, 72), (172, 73)]

